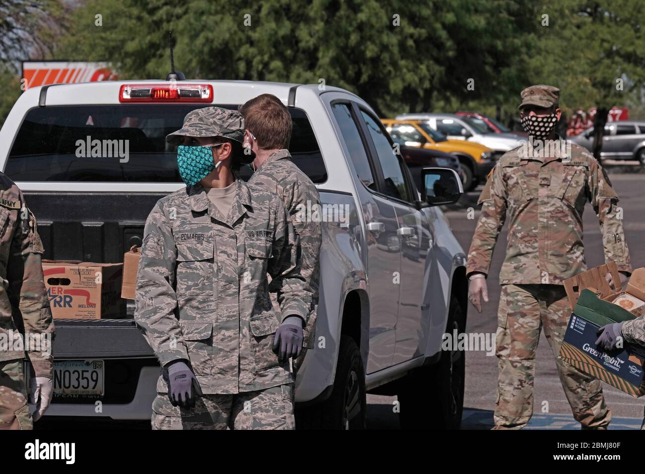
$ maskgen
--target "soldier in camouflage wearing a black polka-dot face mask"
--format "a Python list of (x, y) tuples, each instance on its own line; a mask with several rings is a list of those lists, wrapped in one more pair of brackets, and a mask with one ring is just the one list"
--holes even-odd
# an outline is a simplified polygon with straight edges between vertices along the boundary
[(531, 418), (542, 327), (575, 419), (583, 428), (606, 428), (611, 420), (600, 381), (557, 359), (571, 313), (562, 281), (586, 270), (582, 211), (587, 201), (599, 217), (605, 257), (617, 263), (621, 284), (631, 273), (630, 257), (608, 176), (581, 146), (566, 142), (570, 148), (561, 148), (565, 142), (553, 131), (561, 115), (558, 100), (559, 89), (552, 86), (522, 91), (522, 126), (533, 148), (523, 144), (505, 153), (491, 170), (468, 253), (468, 297), (481, 313), (480, 298), (488, 301), (491, 255), (508, 211), (497, 317), (497, 429), (522, 428)]

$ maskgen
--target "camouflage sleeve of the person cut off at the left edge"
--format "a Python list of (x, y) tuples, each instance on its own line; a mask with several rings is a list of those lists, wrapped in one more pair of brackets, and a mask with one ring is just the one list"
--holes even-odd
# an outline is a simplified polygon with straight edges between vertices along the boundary
[[(14, 317), (21, 317), (25, 333), (48, 335), (41, 344), (33, 338), (25, 338), (25, 350), (36, 377), (52, 377), (51, 344), (54, 339), (54, 320), (49, 306), (45, 279), (43, 277), (43, 242), (38, 235), (34, 214), (28, 210), (22, 193), (21, 210), (17, 212), (15, 233), (7, 263), (7, 293), (12, 302)], [(26, 216), (26, 217), (25, 217)]]

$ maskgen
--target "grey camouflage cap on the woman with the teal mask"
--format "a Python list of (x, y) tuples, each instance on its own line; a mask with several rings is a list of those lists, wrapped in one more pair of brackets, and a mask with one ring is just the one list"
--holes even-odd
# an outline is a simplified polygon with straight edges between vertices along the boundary
[(193, 110), (184, 118), (184, 126), (166, 135), (172, 145), (182, 142), (182, 137), (223, 137), (240, 144), (244, 141), (244, 118), (237, 110), (205, 107)]

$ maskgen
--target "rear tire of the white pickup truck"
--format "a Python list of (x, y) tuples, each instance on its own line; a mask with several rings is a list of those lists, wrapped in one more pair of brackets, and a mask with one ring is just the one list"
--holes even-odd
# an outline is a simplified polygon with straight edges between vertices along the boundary
[(332, 395), (295, 411), (297, 430), (364, 430), (367, 426), (365, 373), (354, 340), (341, 336)]

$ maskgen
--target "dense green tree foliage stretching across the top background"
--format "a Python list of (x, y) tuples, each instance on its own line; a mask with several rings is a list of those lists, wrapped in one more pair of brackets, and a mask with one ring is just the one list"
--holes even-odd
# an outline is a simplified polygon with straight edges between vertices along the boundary
[(175, 65), (188, 78), (339, 86), (366, 99), (382, 117), (461, 109), (501, 111), (508, 121), (517, 117), (519, 92), (538, 83), (561, 88), (568, 114), (591, 106), (645, 110), (642, 0), (34, 5), (45, 4), (58, 11), (75, 6), (66, 22), (54, 22), (64, 31), (48, 25), (39, 30), (51, 57), (110, 61), (123, 79), (164, 78), (172, 30)]

